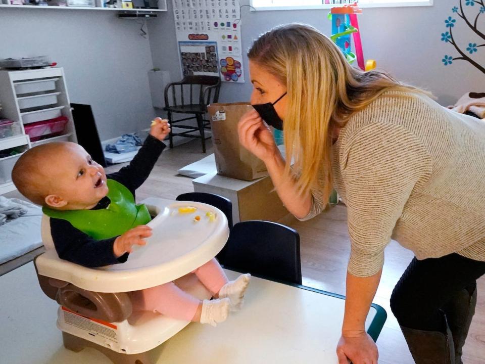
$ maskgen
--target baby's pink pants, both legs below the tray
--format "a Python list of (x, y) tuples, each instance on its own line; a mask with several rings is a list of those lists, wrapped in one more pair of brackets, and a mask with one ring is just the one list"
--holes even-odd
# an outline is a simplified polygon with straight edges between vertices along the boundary
[[(199, 281), (213, 294), (220, 291), (228, 280), (215, 258), (200, 266), (195, 273)], [(154, 311), (172, 319), (192, 321), (200, 300), (175, 286), (173, 282), (132, 292), (133, 310)]]

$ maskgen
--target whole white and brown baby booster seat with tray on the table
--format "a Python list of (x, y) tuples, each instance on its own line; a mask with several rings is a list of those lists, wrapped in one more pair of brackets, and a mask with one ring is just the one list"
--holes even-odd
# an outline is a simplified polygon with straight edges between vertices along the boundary
[[(57, 326), (67, 349), (80, 351), (89, 346), (116, 364), (150, 364), (148, 351), (189, 322), (133, 311), (130, 292), (175, 281), (195, 297), (211, 297), (190, 272), (223, 248), (229, 235), (227, 218), (219, 209), (203, 203), (178, 201), (167, 205), (167, 200), (150, 201), (153, 205), (147, 207), (155, 218), (148, 223), (153, 235), (147, 245), (134, 246), (125, 263), (100, 268), (60, 259), (49, 217), (42, 216), (46, 252), (37, 256), (34, 264), (42, 291), (60, 305)], [(187, 206), (197, 211), (179, 211)]]

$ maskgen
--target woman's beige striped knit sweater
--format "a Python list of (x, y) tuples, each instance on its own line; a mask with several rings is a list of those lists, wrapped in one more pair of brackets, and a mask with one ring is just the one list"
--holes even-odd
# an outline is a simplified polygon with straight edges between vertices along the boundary
[[(378, 272), (391, 238), (417, 259), (485, 261), (485, 122), (387, 92), (341, 129), (332, 173), (348, 207), (352, 275)], [(314, 190), (303, 220), (324, 206)]]

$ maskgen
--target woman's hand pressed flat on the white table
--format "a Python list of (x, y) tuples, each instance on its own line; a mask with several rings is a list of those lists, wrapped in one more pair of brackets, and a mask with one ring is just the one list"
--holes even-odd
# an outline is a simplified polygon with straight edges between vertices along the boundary
[(372, 338), (365, 331), (342, 334), (337, 344), (338, 364), (377, 364), (379, 353)]

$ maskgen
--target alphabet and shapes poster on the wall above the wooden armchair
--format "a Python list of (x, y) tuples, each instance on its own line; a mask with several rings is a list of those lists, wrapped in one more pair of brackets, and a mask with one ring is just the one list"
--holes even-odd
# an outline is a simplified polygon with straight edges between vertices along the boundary
[(237, 0), (172, 0), (182, 73), (244, 82)]

